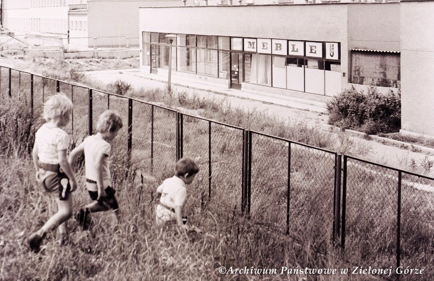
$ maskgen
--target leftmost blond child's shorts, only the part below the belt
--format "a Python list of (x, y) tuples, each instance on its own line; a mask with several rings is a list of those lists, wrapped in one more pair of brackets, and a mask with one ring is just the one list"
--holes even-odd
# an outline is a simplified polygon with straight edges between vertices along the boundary
[(69, 193), (71, 193), (71, 185), (64, 173), (47, 172), (42, 169), (39, 173), (42, 176), (41, 184), (47, 192), (58, 192), (59, 200), (68, 200)]

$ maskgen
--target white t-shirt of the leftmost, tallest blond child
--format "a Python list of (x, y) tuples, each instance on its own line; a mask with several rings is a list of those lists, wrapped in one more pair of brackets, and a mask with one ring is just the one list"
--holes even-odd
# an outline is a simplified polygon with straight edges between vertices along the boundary
[(40, 162), (59, 164), (58, 151), (68, 149), (69, 136), (61, 128), (49, 127), (45, 123), (35, 134), (35, 145), (38, 146)]

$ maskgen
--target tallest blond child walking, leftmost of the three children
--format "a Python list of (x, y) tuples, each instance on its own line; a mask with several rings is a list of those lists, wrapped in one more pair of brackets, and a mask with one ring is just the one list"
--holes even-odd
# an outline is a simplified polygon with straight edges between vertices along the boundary
[(68, 163), (67, 149), (69, 136), (62, 127), (69, 123), (72, 102), (62, 94), (51, 96), (45, 103), (42, 125), (35, 135), (32, 157), (36, 178), (45, 191), (56, 200), (58, 212), (50, 217), (44, 226), (29, 237), (30, 248), (38, 252), (45, 235), (58, 228), (60, 242), (67, 238), (66, 222), (72, 214), (72, 196), (77, 183)]

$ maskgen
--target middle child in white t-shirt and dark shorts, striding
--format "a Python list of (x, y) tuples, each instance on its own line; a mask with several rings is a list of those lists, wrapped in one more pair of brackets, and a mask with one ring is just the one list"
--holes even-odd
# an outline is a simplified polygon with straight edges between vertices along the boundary
[(84, 229), (89, 228), (89, 214), (113, 210), (117, 223), (120, 211), (115, 190), (112, 188), (110, 162), (112, 146), (110, 144), (122, 128), (120, 116), (113, 110), (105, 110), (98, 118), (97, 133), (85, 138), (69, 155), (69, 163), (74, 163), (79, 154), (85, 154), (86, 187), (92, 203), (77, 213), (77, 221)]

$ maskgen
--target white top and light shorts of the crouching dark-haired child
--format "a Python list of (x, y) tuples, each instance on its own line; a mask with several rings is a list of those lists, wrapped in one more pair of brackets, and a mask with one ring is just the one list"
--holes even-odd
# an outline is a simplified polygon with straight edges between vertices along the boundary
[[(162, 184), (157, 187), (157, 192), (161, 193), (160, 203), (169, 208), (175, 208), (175, 206), (182, 207), (187, 198), (185, 183), (177, 176), (164, 180)], [(162, 220), (171, 221), (176, 219), (174, 212), (160, 205), (157, 205), (156, 211), (157, 216)]]

